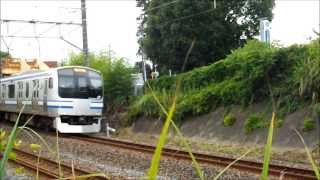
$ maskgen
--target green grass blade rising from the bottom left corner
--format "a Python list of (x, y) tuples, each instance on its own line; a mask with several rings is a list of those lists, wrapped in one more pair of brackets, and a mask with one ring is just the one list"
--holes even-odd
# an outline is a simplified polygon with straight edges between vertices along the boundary
[(13, 146), (14, 146), (14, 141), (16, 139), (17, 136), (17, 128), (18, 128), (18, 124), (19, 124), (19, 120), (20, 120), (20, 116), (24, 110), (25, 105), (22, 106), (20, 113), (18, 115), (18, 118), (16, 119), (16, 122), (13, 126), (13, 129), (11, 130), (9, 139), (8, 139), (8, 143), (6, 146), (6, 149), (3, 153), (3, 157), (1, 159), (1, 164), (0, 164), (0, 179), (4, 179), (5, 176), (5, 166), (8, 162), (9, 159), (9, 154), (12, 152)]

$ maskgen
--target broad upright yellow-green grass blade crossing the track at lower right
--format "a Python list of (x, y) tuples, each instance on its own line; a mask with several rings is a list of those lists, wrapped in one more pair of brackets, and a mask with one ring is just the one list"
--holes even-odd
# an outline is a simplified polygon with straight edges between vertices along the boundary
[(268, 175), (269, 175), (269, 164), (270, 164), (270, 158), (271, 158), (271, 149), (272, 149), (272, 139), (273, 139), (275, 118), (276, 118), (276, 114), (275, 114), (275, 112), (273, 112), (270, 126), (269, 126), (269, 131), (268, 131), (267, 144), (264, 149), (263, 169), (262, 169), (262, 174), (260, 176), (261, 180), (268, 179)]

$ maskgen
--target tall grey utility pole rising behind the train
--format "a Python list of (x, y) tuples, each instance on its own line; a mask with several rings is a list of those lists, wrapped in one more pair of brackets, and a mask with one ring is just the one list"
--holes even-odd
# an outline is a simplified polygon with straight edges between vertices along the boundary
[(83, 49), (83, 55), (84, 55), (84, 66), (89, 66), (86, 0), (81, 0), (81, 17), (82, 17), (82, 43), (83, 43), (82, 49)]

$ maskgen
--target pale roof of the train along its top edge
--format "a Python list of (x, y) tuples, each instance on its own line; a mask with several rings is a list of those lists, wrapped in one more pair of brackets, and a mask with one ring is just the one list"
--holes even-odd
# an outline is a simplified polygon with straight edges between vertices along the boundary
[(92, 69), (92, 68), (89, 68), (89, 67), (85, 67), (85, 66), (62, 66), (62, 67), (52, 68), (52, 69), (49, 69), (49, 70), (46, 70), (46, 71), (43, 71), (43, 70), (25, 71), (25, 72), (22, 72), (22, 73), (15, 74), (13, 76), (2, 78), (2, 79), (0, 79), (0, 82), (16, 80), (17, 78), (20, 78), (20, 76), (22, 76), (24, 78), (27, 78), (29, 76), (33, 77), (35, 75), (50, 75), (50, 72), (52, 72), (52, 71), (57, 71), (59, 69), (67, 69), (67, 68), (84, 68), (84, 69), (95, 71), (95, 72), (101, 74), (99, 71), (97, 71), (95, 69)]

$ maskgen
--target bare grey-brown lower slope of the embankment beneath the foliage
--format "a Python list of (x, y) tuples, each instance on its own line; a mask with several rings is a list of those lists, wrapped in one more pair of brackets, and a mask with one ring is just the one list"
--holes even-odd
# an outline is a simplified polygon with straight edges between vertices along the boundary
[[(182, 134), (194, 141), (207, 143), (232, 144), (232, 145), (257, 145), (262, 146), (267, 139), (267, 128), (257, 128), (252, 132), (245, 131), (245, 121), (251, 114), (261, 114), (264, 118), (271, 118), (271, 112), (265, 112), (265, 104), (255, 104), (243, 110), (241, 107), (229, 108), (235, 122), (232, 125), (224, 125), (225, 108), (221, 107), (208, 114), (190, 117), (180, 124)], [(303, 143), (294, 132), (300, 131), (305, 142), (311, 149), (319, 145), (319, 128), (304, 130), (304, 119), (312, 117), (312, 110), (306, 107), (288, 114), (283, 119), (281, 127), (275, 128), (273, 147), (281, 149), (303, 149)], [(133, 125), (133, 133), (146, 133), (158, 135), (161, 131), (163, 120), (160, 118), (140, 117)], [(171, 134), (175, 135), (173, 129)]]

